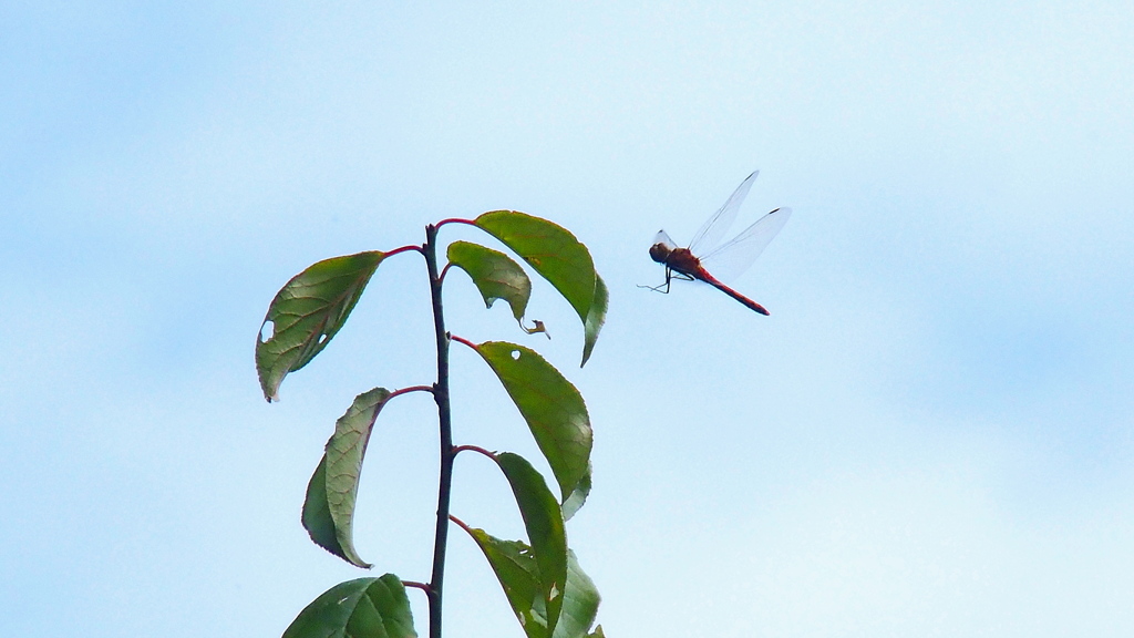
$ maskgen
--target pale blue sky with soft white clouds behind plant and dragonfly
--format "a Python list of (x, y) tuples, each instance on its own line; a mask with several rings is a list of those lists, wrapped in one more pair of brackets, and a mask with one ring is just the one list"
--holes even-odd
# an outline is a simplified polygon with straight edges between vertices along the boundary
[[(0, 5), (0, 635), (278, 636), (359, 576), (299, 506), (356, 394), (431, 380), (421, 261), (278, 405), (266, 304), (513, 208), (590, 245), (591, 363), (542, 283), (551, 342), (460, 277), (449, 326), (583, 392), (569, 532), (610, 636), (1129, 636), (1131, 33), (1123, 1)], [(771, 317), (637, 288), (658, 228), (687, 241), (754, 169), (739, 224), (795, 211), (736, 282)], [(458, 442), (534, 455), (454, 366)], [(371, 444), (378, 573), (428, 579), (430, 408)], [(457, 515), (522, 534), (492, 468), (457, 472)], [(522, 636), (451, 552), (448, 636)]]

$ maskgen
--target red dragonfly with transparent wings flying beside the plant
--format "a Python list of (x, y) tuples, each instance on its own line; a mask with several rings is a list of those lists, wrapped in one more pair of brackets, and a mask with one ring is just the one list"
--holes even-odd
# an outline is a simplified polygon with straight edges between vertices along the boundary
[[(792, 209), (778, 208), (758, 219), (755, 224), (745, 228), (736, 237), (717, 246), (725, 233), (733, 226), (733, 221), (736, 220), (736, 213), (741, 210), (741, 204), (744, 203), (744, 198), (748, 195), (752, 183), (755, 182), (759, 174), (759, 170), (753, 173), (736, 187), (725, 205), (720, 207), (720, 210), (714, 212), (693, 235), (688, 247), (677, 247), (665, 230), (659, 230), (653, 240), (653, 245), (650, 246), (650, 258), (666, 267), (666, 283), (660, 286), (643, 287), (668, 293), (672, 279), (704, 282), (743, 303), (746, 308), (761, 314), (768, 314), (764, 307), (718, 279), (718, 277), (730, 279), (747, 270), (792, 216)], [(716, 276), (711, 275), (710, 270)]]

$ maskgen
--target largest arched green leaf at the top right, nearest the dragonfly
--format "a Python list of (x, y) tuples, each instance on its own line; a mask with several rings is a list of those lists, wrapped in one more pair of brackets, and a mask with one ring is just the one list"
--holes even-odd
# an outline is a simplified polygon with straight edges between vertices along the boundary
[(515, 251), (575, 309), (586, 334), (585, 363), (602, 328), (607, 296), (601, 295), (602, 310), (592, 313), (600, 284), (591, 251), (562, 226), (515, 210), (485, 212), (473, 224)]

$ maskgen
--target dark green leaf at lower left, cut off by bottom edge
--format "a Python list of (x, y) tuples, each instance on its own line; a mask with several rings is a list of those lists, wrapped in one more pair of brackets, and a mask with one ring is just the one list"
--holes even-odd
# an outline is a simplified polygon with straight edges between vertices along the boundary
[(409, 598), (392, 573), (328, 589), (284, 632), (284, 638), (416, 638)]

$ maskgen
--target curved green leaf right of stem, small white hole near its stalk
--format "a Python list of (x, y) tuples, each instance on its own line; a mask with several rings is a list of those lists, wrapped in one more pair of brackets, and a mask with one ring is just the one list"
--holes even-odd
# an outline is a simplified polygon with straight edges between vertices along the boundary
[(535, 351), (507, 342), (484, 342), (476, 352), (500, 377), (551, 465), (566, 500), (591, 460), (591, 417), (583, 395)]

